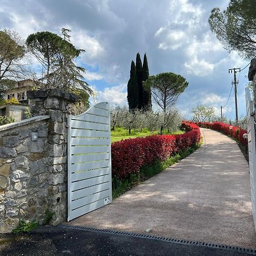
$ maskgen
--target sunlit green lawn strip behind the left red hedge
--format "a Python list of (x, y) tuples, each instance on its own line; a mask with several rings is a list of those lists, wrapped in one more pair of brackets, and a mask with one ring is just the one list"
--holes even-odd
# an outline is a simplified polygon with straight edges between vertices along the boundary
[[(184, 131), (178, 130), (175, 132), (167, 133), (164, 131), (164, 134), (183, 134)], [(137, 138), (137, 137), (146, 137), (153, 134), (159, 134), (159, 131), (148, 131), (146, 128), (143, 129), (132, 129), (131, 134), (129, 130), (123, 127), (116, 127), (114, 131), (111, 131), (111, 142), (121, 141), (121, 139)]]

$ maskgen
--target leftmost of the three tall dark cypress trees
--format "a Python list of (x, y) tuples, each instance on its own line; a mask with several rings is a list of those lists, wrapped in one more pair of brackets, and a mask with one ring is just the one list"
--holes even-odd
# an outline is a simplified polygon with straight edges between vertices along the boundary
[(138, 108), (139, 97), (138, 97), (138, 80), (137, 72), (134, 61), (131, 61), (131, 71), (130, 79), (127, 84), (127, 101), (129, 105), (129, 110), (134, 110)]

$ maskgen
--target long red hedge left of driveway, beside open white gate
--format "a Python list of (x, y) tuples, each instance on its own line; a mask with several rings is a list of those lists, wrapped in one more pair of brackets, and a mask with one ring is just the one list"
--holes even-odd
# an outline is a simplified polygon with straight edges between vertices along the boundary
[(182, 126), (187, 133), (152, 135), (112, 143), (113, 175), (123, 179), (129, 174), (136, 174), (146, 164), (151, 164), (155, 160), (166, 160), (180, 150), (197, 144), (200, 141), (199, 126), (190, 122), (183, 122)]

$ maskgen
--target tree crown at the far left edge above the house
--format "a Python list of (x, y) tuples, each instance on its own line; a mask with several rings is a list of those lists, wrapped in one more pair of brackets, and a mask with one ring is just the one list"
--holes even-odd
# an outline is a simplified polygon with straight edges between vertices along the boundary
[(23, 77), (24, 66), (20, 60), (25, 52), (25, 47), (16, 32), (6, 29), (0, 31), (0, 81)]

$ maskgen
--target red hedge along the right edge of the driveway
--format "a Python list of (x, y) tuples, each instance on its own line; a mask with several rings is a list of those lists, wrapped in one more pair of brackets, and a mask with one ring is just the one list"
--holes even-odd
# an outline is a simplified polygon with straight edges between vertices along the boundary
[(199, 127), (220, 131), (221, 133), (224, 133), (225, 135), (229, 135), (229, 136), (237, 139), (238, 141), (240, 141), (241, 144), (243, 144), (243, 145), (245, 145), (247, 143), (246, 140), (243, 139), (243, 134), (247, 133), (247, 131), (242, 129), (241, 127), (228, 125), (227, 123), (222, 123), (222, 122), (212, 122), (212, 123), (197, 122), (196, 124)]

